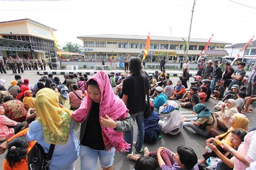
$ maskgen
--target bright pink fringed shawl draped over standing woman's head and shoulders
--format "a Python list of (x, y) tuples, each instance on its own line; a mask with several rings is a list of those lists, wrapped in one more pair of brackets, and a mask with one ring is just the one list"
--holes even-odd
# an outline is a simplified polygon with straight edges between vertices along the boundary
[[(114, 121), (122, 121), (125, 119), (128, 116), (129, 110), (122, 99), (114, 95), (109, 76), (107, 76), (105, 72), (100, 71), (94, 74), (90, 79), (97, 81), (99, 90), (101, 91), (99, 118), (105, 118), (105, 114), (107, 114)], [(89, 95), (83, 98), (81, 106), (73, 112), (72, 118), (79, 123), (85, 121), (91, 107), (91, 102), (92, 99)], [(123, 132), (117, 132), (113, 128), (107, 128), (103, 125), (101, 125), (101, 129), (106, 150), (110, 150), (111, 147), (114, 147), (117, 151), (127, 151), (130, 148), (130, 144), (126, 143), (123, 139)]]

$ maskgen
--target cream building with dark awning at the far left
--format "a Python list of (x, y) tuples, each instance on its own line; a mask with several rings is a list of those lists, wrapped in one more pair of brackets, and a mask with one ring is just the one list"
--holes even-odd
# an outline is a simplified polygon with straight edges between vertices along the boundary
[[(0, 22), (0, 51), (4, 58), (49, 60), (55, 51), (50, 27), (31, 19)], [(57, 31), (52, 28), (53, 31)]]

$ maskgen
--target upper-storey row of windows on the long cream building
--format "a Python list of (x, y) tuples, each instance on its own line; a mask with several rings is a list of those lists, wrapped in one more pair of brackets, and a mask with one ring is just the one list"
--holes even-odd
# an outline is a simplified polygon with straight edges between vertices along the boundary
[[(106, 42), (83, 42), (85, 47), (106, 47)], [(107, 42), (107, 44), (117, 44), (117, 42)], [(183, 49), (183, 44), (150, 44), (150, 49)], [(129, 48), (145, 48), (145, 43), (129, 43)], [(219, 46), (217, 46), (219, 47)], [(128, 43), (118, 43), (118, 48), (128, 48)], [(205, 48), (205, 45), (189, 45), (189, 50), (199, 50), (202, 51)], [(223, 48), (223, 47), (221, 47)], [(208, 46), (207, 49), (215, 49), (215, 46)]]

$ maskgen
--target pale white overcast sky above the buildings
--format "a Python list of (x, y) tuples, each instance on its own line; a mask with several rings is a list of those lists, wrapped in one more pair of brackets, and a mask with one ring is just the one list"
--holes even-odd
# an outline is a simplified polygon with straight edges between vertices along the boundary
[[(55, 28), (58, 44), (99, 34), (188, 38), (194, 0), (0, 0), (0, 22), (29, 18)], [(255, 0), (197, 0), (190, 38), (247, 43), (256, 33)], [(254, 40), (256, 39), (256, 36)]]

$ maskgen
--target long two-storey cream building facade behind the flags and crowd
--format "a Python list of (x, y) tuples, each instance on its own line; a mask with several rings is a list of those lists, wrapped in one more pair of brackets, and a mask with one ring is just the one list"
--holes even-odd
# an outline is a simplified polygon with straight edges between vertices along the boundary
[[(83, 52), (88, 61), (123, 61), (126, 53), (130, 56), (141, 56), (144, 53), (147, 36), (139, 35), (86, 35), (78, 36), (83, 41)], [(187, 59), (196, 63), (199, 54), (205, 48), (207, 39), (191, 38)], [(207, 49), (223, 50), (230, 43), (212, 40)], [(158, 62), (159, 56), (165, 55), (167, 63), (180, 63), (185, 56), (182, 38), (151, 36), (150, 51), (147, 53), (148, 62)]]

